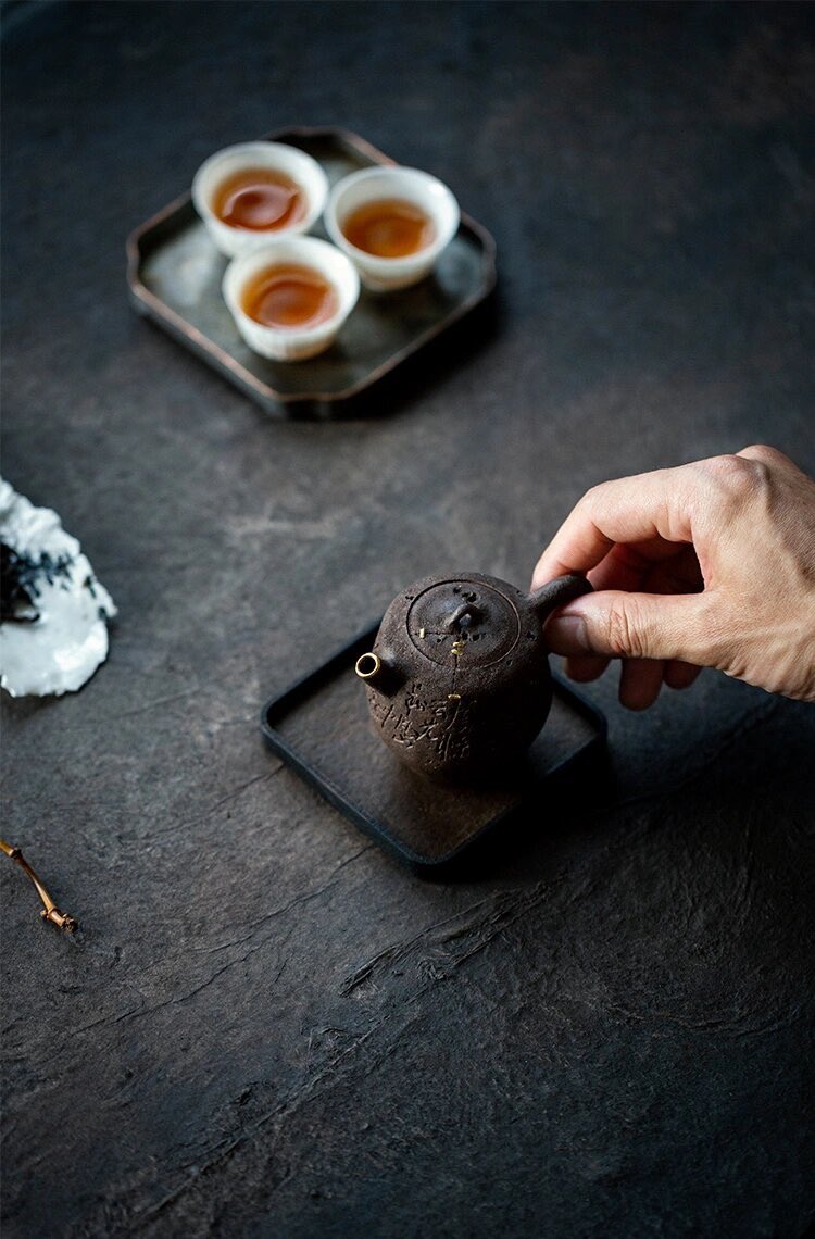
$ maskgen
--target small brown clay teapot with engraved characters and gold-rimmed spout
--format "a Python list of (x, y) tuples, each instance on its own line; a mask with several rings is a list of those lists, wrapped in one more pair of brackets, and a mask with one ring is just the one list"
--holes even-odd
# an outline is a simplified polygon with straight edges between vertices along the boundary
[(400, 593), (355, 668), (384, 743), (430, 777), (499, 776), (551, 706), (544, 624), (590, 590), (583, 576), (559, 576), (528, 596), (462, 572), (427, 576)]

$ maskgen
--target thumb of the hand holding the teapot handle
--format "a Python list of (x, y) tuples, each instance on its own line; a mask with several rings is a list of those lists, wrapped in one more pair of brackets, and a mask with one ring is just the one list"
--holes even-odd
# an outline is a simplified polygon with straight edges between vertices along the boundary
[(625, 593), (602, 590), (576, 598), (546, 624), (555, 654), (604, 658), (678, 658), (707, 663), (701, 623), (702, 595)]

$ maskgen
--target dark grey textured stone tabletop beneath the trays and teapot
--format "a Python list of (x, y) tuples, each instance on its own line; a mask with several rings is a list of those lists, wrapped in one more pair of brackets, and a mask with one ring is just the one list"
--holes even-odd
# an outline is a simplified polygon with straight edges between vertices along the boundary
[[(798, 1235), (815, 711), (705, 674), (427, 882), (259, 736), (404, 584), (519, 584), (592, 483), (815, 471), (811, 6), (6, 4), (4, 473), (120, 607), (4, 703), (4, 1234)], [(128, 305), (203, 157), (337, 124), (498, 242), (487, 318), (275, 422)], [(590, 793), (592, 793), (590, 795)]]

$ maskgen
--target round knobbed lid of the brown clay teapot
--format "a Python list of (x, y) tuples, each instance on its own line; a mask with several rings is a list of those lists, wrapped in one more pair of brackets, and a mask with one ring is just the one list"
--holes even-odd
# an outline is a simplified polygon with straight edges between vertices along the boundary
[(407, 636), (425, 658), (450, 667), (497, 663), (518, 644), (518, 607), (495, 585), (467, 577), (435, 581), (417, 593), (407, 612)]

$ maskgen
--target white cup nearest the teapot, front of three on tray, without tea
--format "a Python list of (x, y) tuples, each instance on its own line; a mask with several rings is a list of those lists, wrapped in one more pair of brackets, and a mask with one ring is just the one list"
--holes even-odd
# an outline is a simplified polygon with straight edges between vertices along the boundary
[[(331, 316), (313, 326), (266, 326), (244, 309), (244, 297), (264, 270), (272, 268), (307, 268), (321, 276), (334, 294)], [(339, 328), (357, 305), (359, 276), (355, 268), (328, 242), (316, 237), (291, 237), (268, 242), (234, 258), (223, 278), (223, 296), (238, 331), (255, 352), (279, 362), (296, 362), (316, 357), (334, 341)]]

